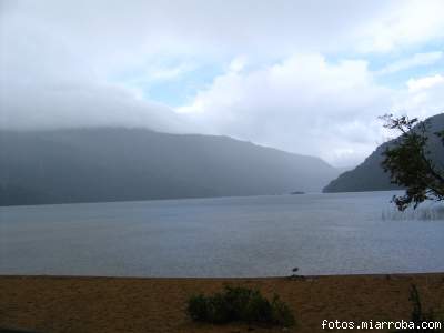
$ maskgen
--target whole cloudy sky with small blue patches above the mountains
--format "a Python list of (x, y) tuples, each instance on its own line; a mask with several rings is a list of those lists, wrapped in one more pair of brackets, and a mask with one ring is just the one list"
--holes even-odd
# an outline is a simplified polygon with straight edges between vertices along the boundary
[(354, 165), (444, 111), (444, 1), (0, 0), (0, 127), (225, 134)]

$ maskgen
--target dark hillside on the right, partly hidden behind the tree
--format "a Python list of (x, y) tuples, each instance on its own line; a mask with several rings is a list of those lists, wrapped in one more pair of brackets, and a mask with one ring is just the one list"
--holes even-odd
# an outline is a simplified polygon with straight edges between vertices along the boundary
[[(426, 120), (430, 124), (428, 133), (442, 131), (444, 129), (444, 113), (431, 117)], [(413, 129), (414, 130), (414, 129)], [(361, 191), (382, 191), (398, 190), (400, 188), (390, 182), (389, 173), (384, 173), (381, 167), (383, 161), (382, 153), (392, 144), (396, 144), (396, 139), (381, 144), (363, 163), (354, 170), (342, 173), (337, 179), (330, 182), (323, 192), (361, 192)], [(442, 142), (434, 134), (428, 134), (428, 149), (431, 158), (435, 163), (444, 165), (444, 150)]]

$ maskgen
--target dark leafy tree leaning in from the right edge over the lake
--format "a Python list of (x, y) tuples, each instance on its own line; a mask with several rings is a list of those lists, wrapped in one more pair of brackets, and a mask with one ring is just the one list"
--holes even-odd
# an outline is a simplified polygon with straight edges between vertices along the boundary
[(385, 114), (382, 119), (385, 128), (401, 132), (385, 149), (382, 162), (392, 183), (406, 189), (404, 195), (393, 196), (397, 209), (404, 211), (410, 205), (416, 209), (425, 200), (444, 200), (444, 170), (432, 160), (427, 144), (433, 134), (444, 145), (444, 130), (431, 133), (427, 121), (418, 122), (417, 118), (406, 115)]

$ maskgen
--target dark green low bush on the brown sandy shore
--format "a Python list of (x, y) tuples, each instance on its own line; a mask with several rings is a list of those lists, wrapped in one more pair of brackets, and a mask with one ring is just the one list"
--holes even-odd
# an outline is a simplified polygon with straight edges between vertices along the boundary
[(292, 326), (295, 319), (278, 295), (269, 301), (259, 290), (225, 285), (222, 292), (193, 295), (188, 301), (192, 320), (213, 324), (246, 322), (263, 325)]

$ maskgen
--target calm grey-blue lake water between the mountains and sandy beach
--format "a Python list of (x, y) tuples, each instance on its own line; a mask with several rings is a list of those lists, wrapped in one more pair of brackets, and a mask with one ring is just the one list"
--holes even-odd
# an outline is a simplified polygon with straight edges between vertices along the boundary
[(393, 192), (0, 208), (0, 274), (269, 276), (444, 271), (444, 220)]

